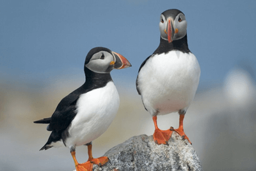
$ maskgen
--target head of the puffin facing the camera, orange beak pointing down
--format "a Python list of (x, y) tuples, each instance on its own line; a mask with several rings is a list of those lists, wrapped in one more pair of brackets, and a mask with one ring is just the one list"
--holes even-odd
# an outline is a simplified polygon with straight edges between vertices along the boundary
[(159, 29), (161, 38), (169, 43), (183, 38), (187, 34), (187, 21), (184, 13), (176, 9), (164, 11), (160, 16)]

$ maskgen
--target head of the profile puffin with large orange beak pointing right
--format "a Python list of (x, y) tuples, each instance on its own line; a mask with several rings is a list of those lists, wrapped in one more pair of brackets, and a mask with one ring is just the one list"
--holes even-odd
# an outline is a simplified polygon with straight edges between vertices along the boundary
[(113, 69), (123, 69), (130, 66), (131, 64), (124, 56), (105, 47), (92, 48), (84, 62), (84, 69), (88, 68), (95, 73), (110, 73)]

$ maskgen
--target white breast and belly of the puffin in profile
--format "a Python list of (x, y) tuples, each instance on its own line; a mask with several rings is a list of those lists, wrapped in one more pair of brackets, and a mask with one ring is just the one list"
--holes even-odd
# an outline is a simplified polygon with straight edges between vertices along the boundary
[(87, 144), (102, 135), (114, 120), (119, 103), (113, 82), (81, 94), (77, 101), (77, 115), (68, 129), (67, 147)]

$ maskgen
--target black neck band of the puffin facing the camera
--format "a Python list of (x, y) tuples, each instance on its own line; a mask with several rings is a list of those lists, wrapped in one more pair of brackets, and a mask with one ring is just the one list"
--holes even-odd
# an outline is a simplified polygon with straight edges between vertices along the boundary
[(169, 43), (168, 40), (164, 40), (160, 36), (159, 47), (157, 47), (157, 49), (155, 50), (155, 52), (153, 54), (168, 53), (171, 50), (180, 50), (181, 52), (189, 53), (190, 50), (188, 48), (187, 34), (183, 38), (181, 38), (179, 40), (174, 40), (171, 43)]

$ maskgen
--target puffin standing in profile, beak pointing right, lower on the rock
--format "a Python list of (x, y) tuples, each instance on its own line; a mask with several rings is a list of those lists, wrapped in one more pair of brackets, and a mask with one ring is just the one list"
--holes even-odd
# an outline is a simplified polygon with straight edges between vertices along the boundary
[[(117, 113), (120, 99), (110, 72), (131, 66), (124, 56), (104, 47), (88, 52), (84, 62), (86, 81), (63, 98), (51, 117), (34, 123), (49, 124), (51, 135), (40, 149), (66, 146), (77, 171), (92, 170), (93, 164), (104, 165), (108, 157), (93, 158), (92, 141), (104, 133)], [(88, 161), (78, 163), (76, 146), (87, 145)]]

